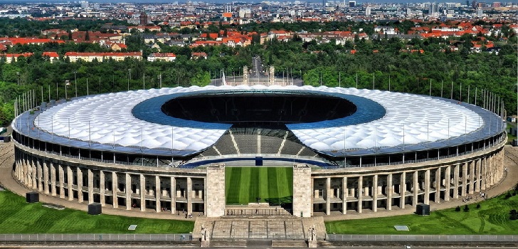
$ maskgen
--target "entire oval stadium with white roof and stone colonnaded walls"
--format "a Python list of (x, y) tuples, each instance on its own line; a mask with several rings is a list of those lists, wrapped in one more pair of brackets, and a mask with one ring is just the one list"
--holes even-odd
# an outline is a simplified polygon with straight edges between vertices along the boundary
[(222, 85), (27, 101), (12, 124), (14, 171), (69, 201), (213, 217), (234, 208), (226, 167), (290, 166), (293, 216), (411, 208), (502, 177), (504, 110), (481, 100)]

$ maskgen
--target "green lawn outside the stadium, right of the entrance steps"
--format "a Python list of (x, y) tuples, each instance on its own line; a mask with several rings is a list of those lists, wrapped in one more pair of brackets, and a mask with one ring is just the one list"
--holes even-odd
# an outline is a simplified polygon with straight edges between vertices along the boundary
[[(518, 234), (518, 220), (509, 220), (509, 211), (518, 209), (518, 196), (504, 195), (471, 204), (469, 212), (455, 208), (432, 211), (430, 216), (406, 215), (326, 222), (327, 233), (345, 234)], [(410, 231), (396, 231), (393, 226), (406, 225)]]

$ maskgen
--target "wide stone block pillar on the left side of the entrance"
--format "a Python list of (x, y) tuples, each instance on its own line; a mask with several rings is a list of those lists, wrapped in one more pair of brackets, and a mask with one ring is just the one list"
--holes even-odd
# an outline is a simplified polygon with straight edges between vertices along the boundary
[[(294, 189), (295, 190), (295, 189)], [(205, 198), (206, 216), (219, 217), (225, 215), (225, 164), (207, 167)], [(293, 198), (295, 206), (295, 195)], [(295, 213), (293, 213), (295, 215)]]

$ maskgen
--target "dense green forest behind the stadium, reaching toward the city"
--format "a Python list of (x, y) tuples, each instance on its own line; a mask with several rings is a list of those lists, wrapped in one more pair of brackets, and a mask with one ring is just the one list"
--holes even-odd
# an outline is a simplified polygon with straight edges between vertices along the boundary
[[(0, 27), (4, 25), (6, 24), (0, 21)], [(256, 25), (241, 28), (271, 28), (268, 24), (263, 24), (262, 27)], [(317, 26), (315, 23), (298, 25), (297, 28), (307, 30)], [(337, 29), (331, 23), (325, 25), (327, 26), (331, 30)], [(32, 25), (26, 28), (34, 27)], [(21, 27), (18, 27), (18, 31), (20, 30)], [(263, 44), (255, 42), (247, 47), (236, 48), (190, 48), (160, 44), (162, 53), (176, 54), (174, 62), (148, 62), (144, 58), (120, 62), (107, 60), (70, 63), (67, 59), (60, 58), (51, 63), (41, 55), (43, 51), (58, 51), (63, 57), (67, 51), (104, 51), (104, 48), (91, 43), (72, 42), (48, 43), (43, 46), (16, 45), (9, 48), (9, 53), (35, 54), (20, 58), (15, 63), (0, 60), (0, 126), (6, 126), (13, 120), (14, 100), (28, 90), (35, 90), (39, 102), (42, 97), (43, 101), (48, 101), (49, 95), (51, 99), (65, 97), (65, 88), (69, 98), (75, 97), (75, 85), (78, 96), (124, 91), (128, 88), (159, 88), (160, 83), (162, 87), (207, 85), (211, 78), (221, 77), (221, 70), (226, 75), (242, 74), (243, 66), (250, 68), (255, 55), (263, 59), (265, 66), (275, 66), (277, 76), (282, 77), (289, 73), (290, 77), (302, 78), (306, 85), (355, 88), (357, 84), (358, 88), (374, 87), (378, 90), (389, 90), (390, 86), (391, 91), (423, 95), (431, 92), (431, 95), (444, 97), (453, 95), (455, 100), (460, 100), (462, 95), (462, 101), (470, 100), (471, 103), (475, 100), (475, 90), (479, 100), (481, 90), (489, 90), (504, 100), (507, 114), (512, 115), (517, 112), (517, 36), (514, 33), (506, 35), (505, 39), (480, 35), (450, 39), (413, 38), (411, 41), (378, 36), (369, 40), (356, 39), (344, 45), (335, 45), (333, 42), (303, 42), (294, 36), (287, 42), (270, 40)], [(472, 52), (472, 41), (481, 39), (495, 41), (499, 53)], [(143, 43), (140, 33), (132, 33), (127, 38), (127, 45), (128, 51), (143, 48), (147, 50), (144, 55), (155, 52)], [(451, 51), (452, 45), (458, 47), (458, 51)], [(423, 53), (410, 52), (419, 49)], [(356, 53), (351, 53), (352, 50)], [(193, 52), (206, 52), (208, 58), (191, 60)], [(68, 87), (65, 86), (65, 80), (71, 83)], [(468, 89), (470, 95), (467, 94)]]

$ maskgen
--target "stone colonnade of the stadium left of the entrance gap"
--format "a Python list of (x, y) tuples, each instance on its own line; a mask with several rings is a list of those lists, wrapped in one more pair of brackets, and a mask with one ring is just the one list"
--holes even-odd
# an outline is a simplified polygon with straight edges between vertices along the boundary
[(179, 170), (160, 174), (135, 166), (76, 164), (53, 155), (38, 157), (18, 147), (15, 160), (18, 181), (68, 201), (181, 215), (206, 213), (206, 175), (196, 170), (193, 174)]

